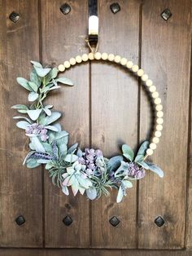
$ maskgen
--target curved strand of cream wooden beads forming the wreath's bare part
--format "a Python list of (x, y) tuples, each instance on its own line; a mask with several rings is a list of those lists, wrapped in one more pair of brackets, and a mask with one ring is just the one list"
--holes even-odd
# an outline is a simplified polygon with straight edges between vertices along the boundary
[[(65, 61), (63, 64), (59, 64), (58, 69), (60, 72), (64, 72), (66, 68), (70, 68), (71, 65), (80, 64), (82, 61), (86, 62), (88, 60), (108, 60), (111, 62), (115, 62), (116, 64), (121, 64), (122, 66), (131, 69), (133, 73), (137, 75), (137, 77), (141, 77), (142, 82), (144, 82), (151, 93), (151, 97), (155, 104), (156, 111), (156, 126), (154, 137), (151, 139), (151, 143), (149, 144), (149, 148), (146, 149), (146, 157), (151, 156), (156, 149), (157, 143), (159, 143), (159, 137), (161, 137), (161, 131), (163, 130), (162, 124), (164, 123), (164, 113), (163, 106), (161, 104), (161, 99), (159, 98), (159, 92), (156, 90), (156, 86), (153, 85), (151, 79), (149, 79), (148, 75), (144, 73), (144, 71), (137, 65), (134, 65), (132, 61), (128, 61), (124, 57), (120, 57), (120, 55), (107, 54), (106, 52), (90, 52), (89, 55), (84, 54), (82, 56), (77, 55), (75, 58), (71, 58), (69, 61)], [(146, 158), (145, 157), (145, 158)]]

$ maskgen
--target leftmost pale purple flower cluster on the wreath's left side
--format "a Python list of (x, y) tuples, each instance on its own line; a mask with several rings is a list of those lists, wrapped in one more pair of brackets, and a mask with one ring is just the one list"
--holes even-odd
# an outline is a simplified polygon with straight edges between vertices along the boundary
[(27, 136), (31, 136), (31, 135), (40, 136), (41, 141), (43, 142), (45, 142), (46, 139), (49, 138), (49, 136), (47, 135), (46, 128), (37, 123), (33, 123), (32, 125), (29, 125), (25, 130), (25, 132)]

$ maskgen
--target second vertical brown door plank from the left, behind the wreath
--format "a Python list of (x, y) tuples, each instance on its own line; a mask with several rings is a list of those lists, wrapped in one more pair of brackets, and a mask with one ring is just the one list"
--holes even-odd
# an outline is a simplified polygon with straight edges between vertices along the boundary
[[(87, 51), (87, 2), (68, 1), (72, 11), (63, 15), (59, 10), (62, 2), (41, 1), (42, 62), (61, 64), (72, 56)], [(81, 25), (77, 25), (81, 24)], [(63, 114), (61, 124), (70, 133), (70, 143), (89, 145), (89, 65), (71, 68), (63, 76), (75, 83), (63, 86), (59, 93), (48, 99)], [(71, 226), (63, 224), (70, 215)], [(65, 196), (51, 183), (45, 172), (45, 234), (46, 247), (89, 247), (89, 201), (85, 196)]]

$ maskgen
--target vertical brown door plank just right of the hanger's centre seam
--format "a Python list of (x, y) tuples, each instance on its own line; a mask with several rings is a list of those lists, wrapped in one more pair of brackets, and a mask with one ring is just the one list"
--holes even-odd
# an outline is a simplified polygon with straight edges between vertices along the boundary
[[(117, 1), (120, 12), (110, 10), (113, 1), (99, 1), (100, 52), (121, 55), (138, 63), (140, 1)], [(115, 64), (91, 64), (92, 143), (112, 157), (122, 143), (137, 147), (137, 79)], [(92, 202), (92, 246), (135, 248), (137, 240), (137, 183), (120, 204), (117, 191)], [(120, 219), (112, 227), (109, 219)]]

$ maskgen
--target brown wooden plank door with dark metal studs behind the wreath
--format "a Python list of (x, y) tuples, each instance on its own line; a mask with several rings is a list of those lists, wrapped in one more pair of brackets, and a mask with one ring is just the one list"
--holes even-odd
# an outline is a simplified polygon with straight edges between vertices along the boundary
[[(141, 66), (155, 82), (164, 104), (164, 133), (153, 161), (164, 179), (147, 174), (116, 204), (116, 192), (98, 201), (64, 196), (43, 168), (27, 170), (28, 141), (12, 120), (11, 105), (27, 95), (15, 78), (28, 77), (30, 60), (58, 65), (88, 53), (88, 2), (0, 0), (0, 255), (192, 255), (191, 168), (191, 1), (98, 0), (98, 51)], [(164, 20), (161, 13), (172, 15)], [(18, 22), (10, 19), (12, 12)], [(92, 62), (65, 73), (75, 86), (63, 87), (49, 103), (63, 113), (70, 143), (101, 148), (107, 157), (121, 143), (137, 149), (150, 133), (151, 110), (141, 81), (124, 68)], [(15, 218), (24, 216), (24, 225)], [(70, 215), (70, 226), (63, 218)], [(120, 224), (112, 227), (112, 216)], [(162, 216), (164, 225), (155, 225)]]

